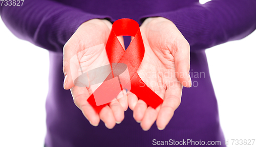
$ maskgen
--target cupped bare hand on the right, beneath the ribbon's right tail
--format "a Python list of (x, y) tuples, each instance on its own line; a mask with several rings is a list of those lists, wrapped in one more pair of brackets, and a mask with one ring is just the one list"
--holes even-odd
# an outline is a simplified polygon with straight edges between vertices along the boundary
[(142, 81), (163, 99), (163, 103), (156, 109), (147, 107), (130, 92), (129, 107), (134, 110), (134, 118), (144, 131), (149, 130), (155, 121), (158, 129), (163, 130), (181, 103), (182, 87), (191, 87), (190, 47), (175, 24), (166, 18), (147, 18), (140, 29), (145, 55), (137, 72)]

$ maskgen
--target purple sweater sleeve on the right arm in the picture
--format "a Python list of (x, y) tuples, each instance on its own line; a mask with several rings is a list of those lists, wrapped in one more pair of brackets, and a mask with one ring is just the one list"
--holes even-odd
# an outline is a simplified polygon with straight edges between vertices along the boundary
[(191, 51), (242, 39), (256, 29), (255, 0), (212, 0), (201, 5), (143, 16), (165, 17), (174, 22)]

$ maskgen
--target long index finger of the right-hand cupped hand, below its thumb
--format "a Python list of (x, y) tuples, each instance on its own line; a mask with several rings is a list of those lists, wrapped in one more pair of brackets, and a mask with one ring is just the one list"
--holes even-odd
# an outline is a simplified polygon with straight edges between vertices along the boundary
[(165, 92), (163, 104), (157, 116), (157, 127), (163, 130), (174, 115), (174, 111), (181, 103), (182, 85), (177, 82), (177, 85), (169, 86)]

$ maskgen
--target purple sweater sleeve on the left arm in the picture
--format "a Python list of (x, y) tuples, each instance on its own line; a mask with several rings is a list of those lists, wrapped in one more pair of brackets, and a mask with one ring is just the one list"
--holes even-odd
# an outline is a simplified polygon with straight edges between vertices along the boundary
[(83, 22), (93, 18), (111, 19), (49, 0), (26, 0), (23, 6), (3, 3), (0, 14), (18, 38), (54, 52), (62, 52), (63, 45)]

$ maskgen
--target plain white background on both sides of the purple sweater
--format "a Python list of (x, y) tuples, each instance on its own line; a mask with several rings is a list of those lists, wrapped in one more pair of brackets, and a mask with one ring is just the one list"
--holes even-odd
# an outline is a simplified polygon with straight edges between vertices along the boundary
[[(0, 52), (0, 146), (43, 146), (48, 51), (16, 38), (0, 20)], [(256, 139), (256, 32), (206, 54), (225, 138)]]

